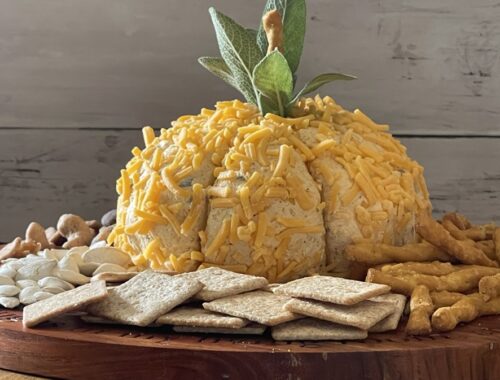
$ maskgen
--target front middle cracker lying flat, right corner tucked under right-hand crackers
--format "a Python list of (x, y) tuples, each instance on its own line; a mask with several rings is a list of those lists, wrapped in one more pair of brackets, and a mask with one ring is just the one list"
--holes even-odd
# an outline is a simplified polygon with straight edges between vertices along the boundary
[(301, 318), (300, 315), (284, 310), (290, 297), (256, 290), (203, 303), (203, 308), (217, 313), (246, 318), (267, 326)]

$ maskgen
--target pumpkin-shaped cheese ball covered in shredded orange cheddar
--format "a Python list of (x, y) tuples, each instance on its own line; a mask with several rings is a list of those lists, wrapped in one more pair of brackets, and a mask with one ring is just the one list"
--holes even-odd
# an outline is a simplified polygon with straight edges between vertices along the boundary
[(287, 281), (349, 276), (345, 247), (414, 242), (430, 207), (423, 169), (385, 125), (330, 97), (294, 117), (219, 102), (155, 137), (118, 180), (110, 242), (141, 268), (219, 266)]

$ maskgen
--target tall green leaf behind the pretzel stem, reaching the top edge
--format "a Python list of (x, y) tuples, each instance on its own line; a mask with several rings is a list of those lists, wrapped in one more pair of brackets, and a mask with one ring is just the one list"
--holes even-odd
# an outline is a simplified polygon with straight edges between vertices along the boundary
[[(305, 0), (268, 0), (264, 8), (266, 14), (276, 9), (281, 14), (283, 22), (283, 50), (292, 73), (297, 71), (304, 47), (304, 36), (306, 34), (306, 3)], [(267, 38), (262, 22), (257, 35), (262, 54), (267, 52)]]

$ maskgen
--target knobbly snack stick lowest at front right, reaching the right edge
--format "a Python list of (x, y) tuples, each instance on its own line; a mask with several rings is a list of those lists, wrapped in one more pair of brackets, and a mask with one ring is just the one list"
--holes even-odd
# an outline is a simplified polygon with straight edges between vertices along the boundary
[(460, 322), (469, 322), (483, 315), (499, 313), (500, 297), (485, 302), (481, 294), (474, 293), (452, 306), (437, 309), (432, 315), (432, 328), (437, 331), (450, 331)]

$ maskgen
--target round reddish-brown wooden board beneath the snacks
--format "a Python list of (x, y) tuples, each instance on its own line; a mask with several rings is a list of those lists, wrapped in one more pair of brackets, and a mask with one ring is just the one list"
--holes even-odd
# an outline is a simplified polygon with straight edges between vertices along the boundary
[(446, 334), (370, 334), (352, 342), (177, 334), (64, 317), (25, 329), (0, 310), (0, 368), (74, 379), (498, 379), (500, 317)]

